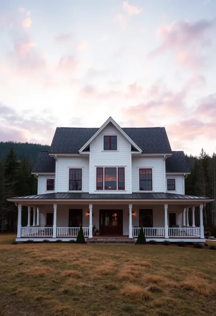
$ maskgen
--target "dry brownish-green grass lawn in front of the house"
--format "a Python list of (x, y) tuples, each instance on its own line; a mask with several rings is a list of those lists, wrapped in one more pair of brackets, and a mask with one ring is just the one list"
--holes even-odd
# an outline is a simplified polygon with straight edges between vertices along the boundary
[(216, 315), (215, 251), (0, 241), (0, 258), (2, 316)]

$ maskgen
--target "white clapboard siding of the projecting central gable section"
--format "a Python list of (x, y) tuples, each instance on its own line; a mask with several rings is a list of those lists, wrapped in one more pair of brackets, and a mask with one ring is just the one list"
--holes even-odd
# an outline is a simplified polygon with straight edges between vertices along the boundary
[[(103, 151), (103, 136), (117, 135), (118, 150)], [(90, 144), (91, 193), (130, 193), (131, 144), (110, 123)], [(125, 167), (125, 191), (96, 191), (96, 167)]]

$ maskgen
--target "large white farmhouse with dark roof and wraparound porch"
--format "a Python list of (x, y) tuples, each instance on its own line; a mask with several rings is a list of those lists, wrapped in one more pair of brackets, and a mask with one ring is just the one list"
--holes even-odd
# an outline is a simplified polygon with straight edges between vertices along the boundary
[[(121, 128), (110, 117), (100, 128), (56, 128), (32, 173), (38, 194), (9, 199), (18, 205), (17, 241), (69, 241), (80, 224), (89, 239), (93, 226), (103, 238), (131, 239), (143, 226), (147, 241), (205, 241), (202, 210), (212, 200), (184, 194), (190, 168), (183, 151), (171, 150), (163, 127)], [(28, 207), (26, 227), (22, 206)]]

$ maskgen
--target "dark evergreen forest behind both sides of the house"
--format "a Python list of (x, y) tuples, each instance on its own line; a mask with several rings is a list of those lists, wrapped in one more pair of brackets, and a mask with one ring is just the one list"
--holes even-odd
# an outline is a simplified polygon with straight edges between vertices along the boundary
[[(49, 146), (39, 144), (0, 143), (0, 232), (16, 231), (17, 206), (7, 202), (7, 198), (37, 193), (37, 179), (31, 174), (32, 164), (38, 150), (48, 149)], [(191, 174), (185, 179), (185, 194), (214, 199), (203, 208), (203, 222), (216, 235), (216, 154), (209, 156), (201, 149), (199, 156), (190, 155), (187, 159)], [(26, 212), (22, 212), (24, 222)]]

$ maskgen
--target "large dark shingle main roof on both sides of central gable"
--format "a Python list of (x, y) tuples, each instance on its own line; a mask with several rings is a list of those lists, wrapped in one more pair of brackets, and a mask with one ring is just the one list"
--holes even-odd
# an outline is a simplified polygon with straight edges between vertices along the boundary
[[(50, 154), (71, 153), (78, 150), (96, 133), (98, 128), (57, 127)], [(164, 127), (122, 128), (143, 153), (171, 153)]]

